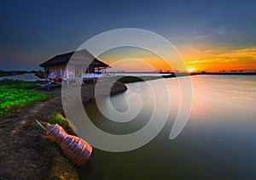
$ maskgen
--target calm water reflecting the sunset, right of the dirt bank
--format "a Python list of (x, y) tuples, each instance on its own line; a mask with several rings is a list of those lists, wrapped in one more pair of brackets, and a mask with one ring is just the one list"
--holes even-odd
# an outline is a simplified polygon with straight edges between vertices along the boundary
[[(160, 134), (128, 152), (94, 149), (90, 161), (79, 169), (80, 175), (88, 179), (256, 179), (256, 76), (191, 78), (193, 108), (177, 138), (169, 139), (180, 100), (177, 80), (172, 78), (166, 79), (172, 100), (170, 115)], [(159, 80), (152, 82), (161, 86)], [(154, 95), (145, 82), (127, 87), (125, 93), (111, 98), (113, 107), (125, 110), (126, 98), (137, 93), (143, 98), (143, 112), (124, 126), (108, 121), (96, 110), (96, 104), (90, 104), (85, 109), (96, 126), (126, 134), (148, 122)], [(166, 101), (166, 97), (156, 98)], [(108, 111), (108, 101), (102, 99), (102, 104)]]

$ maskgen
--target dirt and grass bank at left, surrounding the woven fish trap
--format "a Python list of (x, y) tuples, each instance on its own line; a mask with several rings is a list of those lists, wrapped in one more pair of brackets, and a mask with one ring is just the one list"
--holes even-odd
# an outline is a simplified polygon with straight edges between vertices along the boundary
[[(3, 177), (9, 178), (79, 179), (77, 166), (62, 154), (59, 145), (51, 143), (45, 136), (38, 136), (38, 133), (46, 134), (35, 124), (35, 119), (44, 121), (44, 126), (46, 122), (57, 123), (69, 134), (73, 134), (73, 129), (60, 113), (60, 90), (44, 93), (35, 88), (36, 83), (40, 82), (0, 81), (0, 135), (4, 137), (0, 138), (0, 149), (6, 149), (0, 152), (0, 159), (6, 159), (6, 166), (1, 166), (0, 179), (3, 172)], [(48, 98), (49, 94), (51, 98)], [(42, 101), (44, 98), (47, 99)], [(14, 131), (22, 135), (13, 135), (11, 132)], [(22, 152), (16, 149), (22, 149)], [(20, 159), (12, 160), (14, 156)], [(31, 171), (32, 166), (36, 171)]]

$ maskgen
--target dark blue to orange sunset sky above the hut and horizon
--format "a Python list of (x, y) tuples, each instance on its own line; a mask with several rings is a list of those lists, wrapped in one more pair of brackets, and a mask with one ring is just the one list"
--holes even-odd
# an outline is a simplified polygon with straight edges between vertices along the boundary
[(1, 7), (0, 70), (38, 70), (56, 54), (118, 28), (165, 37), (190, 69), (256, 70), (254, 0), (3, 0)]

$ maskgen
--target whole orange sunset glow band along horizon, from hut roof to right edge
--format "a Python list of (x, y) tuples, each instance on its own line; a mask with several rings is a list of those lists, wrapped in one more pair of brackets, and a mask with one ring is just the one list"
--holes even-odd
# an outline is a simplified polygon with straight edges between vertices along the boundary
[[(242, 48), (230, 51), (220, 50), (200, 50), (191, 47), (178, 48), (188, 67), (185, 69), (173, 68), (179, 71), (230, 71), (230, 70), (256, 70), (256, 47)], [(143, 50), (137, 52), (112, 52), (103, 54), (99, 57), (108, 65), (122, 59), (137, 59), (153, 67), (149, 68), (139, 65), (137, 62), (126, 61), (113, 66), (115, 70), (171, 70), (163, 59), (154, 53), (145, 52)]]

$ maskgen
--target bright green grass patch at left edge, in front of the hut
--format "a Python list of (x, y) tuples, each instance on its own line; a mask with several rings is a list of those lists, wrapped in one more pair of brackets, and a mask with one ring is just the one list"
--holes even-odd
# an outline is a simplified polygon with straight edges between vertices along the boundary
[(28, 88), (35, 87), (38, 82), (23, 82), (15, 80), (0, 81), (0, 115), (6, 115), (12, 110), (43, 100), (49, 96)]

